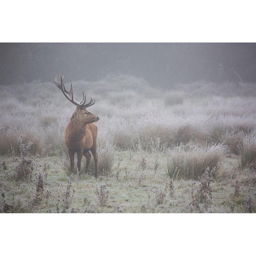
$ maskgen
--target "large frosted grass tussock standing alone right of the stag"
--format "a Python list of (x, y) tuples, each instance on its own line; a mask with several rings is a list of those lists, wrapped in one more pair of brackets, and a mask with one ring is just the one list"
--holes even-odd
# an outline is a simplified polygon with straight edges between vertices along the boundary
[(194, 147), (186, 151), (181, 145), (174, 149), (167, 161), (167, 171), (172, 179), (197, 180), (209, 167), (219, 169), (219, 163), (225, 156), (227, 147), (214, 144), (206, 148)]

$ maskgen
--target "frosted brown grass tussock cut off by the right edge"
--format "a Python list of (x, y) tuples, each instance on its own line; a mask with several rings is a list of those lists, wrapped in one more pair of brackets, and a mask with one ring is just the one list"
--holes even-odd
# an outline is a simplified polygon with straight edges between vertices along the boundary
[(245, 167), (256, 167), (256, 137), (247, 136), (243, 139), (242, 143), (239, 143), (239, 166), (241, 169)]

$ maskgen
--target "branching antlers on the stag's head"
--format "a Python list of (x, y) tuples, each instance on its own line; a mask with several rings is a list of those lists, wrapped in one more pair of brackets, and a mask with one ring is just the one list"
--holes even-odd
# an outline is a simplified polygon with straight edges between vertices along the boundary
[(63, 83), (63, 79), (64, 79), (64, 76), (60, 76), (60, 83), (57, 81), (57, 76), (55, 77), (54, 79), (54, 83), (55, 85), (62, 91), (62, 93), (64, 94), (64, 96), (69, 100), (71, 101), (73, 104), (75, 104), (76, 106), (79, 105), (79, 106), (83, 106), (85, 108), (87, 107), (90, 107), (92, 106), (94, 103), (95, 103), (95, 100), (93, 100), (91, 98), (90, 102), (85, 104), (85, 101), (86, 101), (86, 95), (84, 95), (84, 92), (82, 91), (83, 93), (83, 99), (82, 101), (78, 102), (74, 99), (74, 96), (73, 96), (73, 87), (72, 87), (72, 82), (71, 82), (71, 85), (70, 85), (70, 90), (67, 91), (66, 88), (65, 88), (65, 85)]

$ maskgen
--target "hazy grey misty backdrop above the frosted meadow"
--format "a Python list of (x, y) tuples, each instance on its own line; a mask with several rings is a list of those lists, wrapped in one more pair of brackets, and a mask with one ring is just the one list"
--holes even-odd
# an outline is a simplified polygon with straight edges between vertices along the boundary
[(1, 43), (0, 84), (98, 81), (108, 74), (172, 88), (195, 81), (255, 82), (255, 43)]

